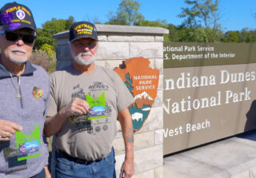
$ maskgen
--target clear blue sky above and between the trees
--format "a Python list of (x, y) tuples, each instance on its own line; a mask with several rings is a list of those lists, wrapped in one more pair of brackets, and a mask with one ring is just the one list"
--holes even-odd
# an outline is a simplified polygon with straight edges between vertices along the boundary
[[(7, 0), (0, 0), (0, 6)], [(50, 21), (51, 18), (67, 19), (71, 16), (78, 21), (106, 22), (110, 11), (118, 10), (122, 0), (16, 0), (30, 8), (38, 28)], [(175, 26), (181, 25), (183, 19), (178, 18), (182, 7), (186, 7), (184, 0), (138, 0), (141, 4), (140, 13), (146, 20), (166, 20)], [(219, 23), (222, 30), (256, 29), (256, 0), (219, 0)]]

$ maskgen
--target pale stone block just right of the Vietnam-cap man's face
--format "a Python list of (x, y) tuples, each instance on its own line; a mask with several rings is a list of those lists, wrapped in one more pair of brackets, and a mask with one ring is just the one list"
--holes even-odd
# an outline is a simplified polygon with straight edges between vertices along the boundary
[(129, 43), (127, 42), (98, 42), (98, 59), (127, 59), (129, 58)]

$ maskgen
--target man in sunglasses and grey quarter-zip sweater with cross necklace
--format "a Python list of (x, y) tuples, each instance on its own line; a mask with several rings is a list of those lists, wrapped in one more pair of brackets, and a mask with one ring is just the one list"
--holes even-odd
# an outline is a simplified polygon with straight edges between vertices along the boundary
[(43, 125), (50, 93), (44, 69), (29, 61), (36, 38), (30, 9), (0, 10), (0, 177), (46, 177)]

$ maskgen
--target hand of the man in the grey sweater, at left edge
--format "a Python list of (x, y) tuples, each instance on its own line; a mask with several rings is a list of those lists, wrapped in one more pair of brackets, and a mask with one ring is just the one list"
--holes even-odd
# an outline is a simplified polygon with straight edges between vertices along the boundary
[(22, 131), (22, 126), (11, 121), (0, 120), (0, 140), (10, 140), (16, 130)]

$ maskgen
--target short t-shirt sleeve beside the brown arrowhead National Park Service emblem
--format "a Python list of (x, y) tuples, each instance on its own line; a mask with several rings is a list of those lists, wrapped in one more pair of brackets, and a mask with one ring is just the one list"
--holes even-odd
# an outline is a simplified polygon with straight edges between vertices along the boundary
[(114, 72), (114, 81), (117, 86), (118, 112), (120, 112), (123, 109), (128, 108), (128, 106), (131, 105), (132, 103), (134, 103), (134, 97), (131, 95), (129, 89), (127, 89), (121, 77), (118, 76), (118, 73), (115, 73), (115, 72)]

